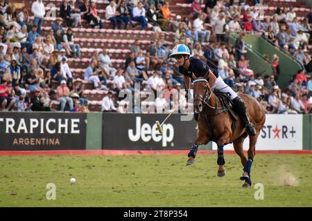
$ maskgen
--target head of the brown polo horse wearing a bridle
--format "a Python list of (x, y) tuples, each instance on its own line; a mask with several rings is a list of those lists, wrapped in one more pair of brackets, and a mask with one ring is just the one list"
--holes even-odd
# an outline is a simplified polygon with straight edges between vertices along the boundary
[(205, 106), (204, 102), (207, 101), (207, 97), (211, 94), (211, 88), (209, 87), (206, 77), (193, 81), (193, 93), (194, 112), (201, 113)]

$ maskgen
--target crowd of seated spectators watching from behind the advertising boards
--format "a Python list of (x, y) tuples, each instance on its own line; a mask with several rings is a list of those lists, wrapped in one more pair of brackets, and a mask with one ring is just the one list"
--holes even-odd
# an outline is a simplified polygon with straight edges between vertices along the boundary
[[(97, 90), (105, 90), (102, 111), (116, 108), (118, 93), (139, 89), (168, 89), (180, 91), (182, 75), (174, 62), (167, 59), (172, 44), (166, 41), (165, 31), (175, 32), (174, 44), (187, 44), (194, 57), (214, 68), (225, 83), (241, 93), (264, 97), (268, 113), (309, 113), (312, 104), (312, 81), (306, 73), (311, 70), (311, 13), (304, 19), (296, 17), (293, 8), (279, 9), (272, 18), (259, 20), (259, 15), (245, 1), (189, 1), (187, 17), (171, 15), (168, 1), (112, 0), (105, 15), (94, 0), (63, 0), (59, 17), (52, 23), (51, 32), (42, 35), (44, 15), (42, 0), (34, 1), (31, 12), (23, 8), (18, 14), (10, 3), (0, 1), (0, 111), (53, 111), (51, 102), (60, 103), (58, 111), (88, 112), (83, 80), (73, 76), (69, 58), (81, 56), (72, 28), (104, 28), (103, 19), (114, 29), (128, 26), (155, 32), (155, 39), (143, 50), (139, 39), (130, 46), (123, 68), (114, 68), (107, 48), (96, 50), (85, 69), (84, 80)], [(201, 4), (205, 3), (205, 8)], [(29, 13), (29, 15), (28, 15)], [(31, 15), (33, 14), (33, 19)], [(84, 24), (86, 23), (86, 25)], [(277, 85), (279, 57), (267, 59), (275, 73), (254, 73), (245, 59), (244, 33), (234, 45), (228, 43), (229, 32), (253, 31), (268, 38), (277, 47), (300, 61), (305, 70), (298, 70), (288, 88)], [(217, 41), (211, 41), (214, 37)], [(155, 101), (156, 108), (170, 105), (171, 95), (164, 94)], [(139, 112), (139, 110), (136, 110)]]

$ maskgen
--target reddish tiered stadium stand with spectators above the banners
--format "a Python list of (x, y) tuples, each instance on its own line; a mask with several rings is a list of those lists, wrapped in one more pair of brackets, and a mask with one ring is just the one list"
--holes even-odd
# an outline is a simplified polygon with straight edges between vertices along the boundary
[[(138, 2), (125, 1), (129, 11), (126, 14), (124, 9), (118, 9), (121, 1), (114, 1), (119, 11), (115, 15), (121, 19), (132, 17), (134, 8), (145, 11), (145, 17), (152, 17), (146, 18), (149, 23), (144, 30), (141, 30), (143, 20), (139, 19), (132, 19), (133, 26), (129, 24), (127, 30), (122, 29), (124, 26), (114, 29), (112, 21), (105, 19), (110, 1), (0, 1), (0, 110), (59, 111), (60, 102), (56, 97), (61, 95), (56, 88), (62, 80), (67, 82), (69, 97), (76, 101), (73, 109), (70, 110), (67, 104), (64, 110), (76, 112), (103, 111), (102, 100), (109, 90), (114, 95), (114, 104), (119, 104), (119, 90), (128, 88), (133, 93), (133, 84), (137, 81), (142, 83), (142, 90), (180, 90), (183, 81), (177, 67), (163, 58), (175, 44), (182, 43), (188, 44), (194, 56), (207, 61), (235, 90), (254, 97), (264, 96), (263, 105), (268, 113), (311, 112), (312, 14), (306, 3), (296, 0), (264, 1), (264, 15), (258, 19), (261, 15), (257, 14), (259, 8), (254, 7), (254, 1), (202, 1), (201, 12), (198, 0), (193, 3), (168, 1), (168, 8), (166, 1), (146, 0), (142, 1), (144, 9), (137, 8)], [(155, 4), (156, 9), (151, 9), (150, 4)], [(43, 19), (39, 9), (35, 14), (32, 12), (35, 6), (42, 10)], [(81, 16), (81, 26), (80, 20), (75, 24), (77, 13)], [(198, 15), (202, 15), (201, 29), (210, 33), (208, 43), (202, 41), (204, 37), (193, 27), (193, 20)], [(238, 26), (232, 21), (235, 17), (238, 18)], [(276, 20), (273, 19), (275, 17)], [(27, 27), (26, 34), (22, 31), (23, 26)], [(239, 48), (242, 46), (239, 39), (235, 39), (237, 44), (229, 44), (229, 28), (235, 27), (234, 31), (247, 31), (246, 35), (262, 37), (272, 42), (276, 50), (283, 50), (300, 61), (302, 70), (293, 73), (288, 87), (277, 85), (278, 78), (288, 77), (279, 73), (279, 66), (283, 64), (279, 64), (277, 55), (263, 55), (272, 66), (272, 73), (261, 75), (255, 73), (256, 69), (248, 59), (241, 56), (245, 49)], [(72, 35), (67, 34), (68, 28), (71, 28)], [(58, 29), (60, 37), (55, 35)], [(37, 40), (39, 43), (36, 44), (38, 37), (43, 41)], [(45, 50), (49, 47), (47, 39), (53, 44), (53, 52)], [(151, 46), (151, 41), (155, 41), (155, 46)], [(242, 53), (238, 53), (240, 49)], [(63, 57), (66, 57), (64, 61)], [(159, 60), (166, 60), (167, 64), (160, 64)], [(126, 71), (130, 61), (135, 61), (137, 70), (134, 73), (137, 76), (129, 77)], [(65, 73), (64, 63), (68, 64), (71, 74)], [(99, 84), (90, 80), (91, 75), (98, 76)], [(40, 101), (36, 103), (40, 108), (34, 108), (36, 99)], [(170, 96), (166, 97), (166, 102), (170, 102)], [(123, 113), (125, 110), (117, 111)]]

